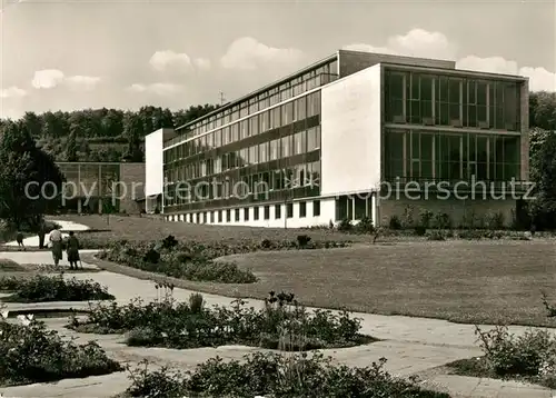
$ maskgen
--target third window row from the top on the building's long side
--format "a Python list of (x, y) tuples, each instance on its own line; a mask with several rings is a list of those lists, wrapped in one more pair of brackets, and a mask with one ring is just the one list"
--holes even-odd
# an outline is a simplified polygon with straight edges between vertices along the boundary
[(265, 163), (318, 150), (320, 148), (320, 126), (295, 135), (277, 138), (234, 152), (224, 153), (165, 171), (168, 181), (182, 181), (217, 175), (231, 169)]

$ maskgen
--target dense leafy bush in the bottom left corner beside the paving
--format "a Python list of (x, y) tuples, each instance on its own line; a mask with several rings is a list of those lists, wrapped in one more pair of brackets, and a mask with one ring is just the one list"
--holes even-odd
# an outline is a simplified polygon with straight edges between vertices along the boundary
[(0, 382), (44, 382), (123, 370), (96, 342), (76, 345), (48, 331), (43, 322), (20, 316), (21, 324), (0, 320)]

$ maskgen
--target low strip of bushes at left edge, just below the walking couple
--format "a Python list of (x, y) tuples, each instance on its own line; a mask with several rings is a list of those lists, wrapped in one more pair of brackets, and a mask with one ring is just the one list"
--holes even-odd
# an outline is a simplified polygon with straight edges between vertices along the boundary
[(4, 277), (0, 279), (0, 290), (13, 291), (4, 301), (88, 301), (113, 300), (105, 286), (93, 280), (64, 279), (58, 276), (37, 275), (32, 278)]

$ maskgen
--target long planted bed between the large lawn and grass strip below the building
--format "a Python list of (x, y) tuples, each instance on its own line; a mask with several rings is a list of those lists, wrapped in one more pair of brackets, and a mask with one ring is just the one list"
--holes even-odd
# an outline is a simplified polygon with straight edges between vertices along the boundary
[(179, 243), (172, 236), (169, 236), (159, 242), (151, 243), (118, 241), (100, 252), (99, 258), (193, 281), (252, 283), (257, 281), (257, 278), (250, 270), (240, 269), (234, 262), (215, 261), (215, 259), (258, 250), (325, 249), (347, 245), (335, 241), (314, 242), (307, 236), (299, 236), (297, 241), (279, 242), (264, 239), (259, 242), (244, 241), (234, 245), (196, 241)]

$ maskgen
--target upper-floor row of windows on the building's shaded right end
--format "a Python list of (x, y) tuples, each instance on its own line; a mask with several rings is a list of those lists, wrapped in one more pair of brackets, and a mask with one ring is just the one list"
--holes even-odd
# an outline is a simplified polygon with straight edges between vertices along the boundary
[(386, 106), (387, 121), (396, 123), (520, 128), (518, 82), (389, 71)]

